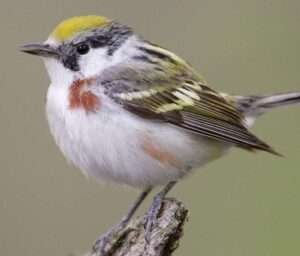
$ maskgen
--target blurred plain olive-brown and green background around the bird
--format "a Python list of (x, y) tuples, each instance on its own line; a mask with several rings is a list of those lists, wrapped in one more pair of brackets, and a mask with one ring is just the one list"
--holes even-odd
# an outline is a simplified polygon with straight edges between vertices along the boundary
[[(138, 193), (66, 163), (44, 116), (48, 77), (20, 45), (69, 16), (102, 14), (188, 59), (217, 90), (300, 90), (299, 11), (294, 0), (2, 1), (0, 255), (84, 253)], [(286, 157), (233, 150), (182, 181), (171, 195), (190, 220), (175, 255), (300, 255), (300, 106), (253, 130)]]

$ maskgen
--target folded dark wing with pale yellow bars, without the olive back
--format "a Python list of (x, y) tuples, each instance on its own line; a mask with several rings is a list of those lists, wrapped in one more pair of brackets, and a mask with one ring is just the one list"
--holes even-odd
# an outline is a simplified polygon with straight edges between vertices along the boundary
[(130, 112), (248, 150), (277, 154), (243, 125), (243, 114), (225, 96), (193, 80), (160, 84), (146, 90), (114, 93)]

